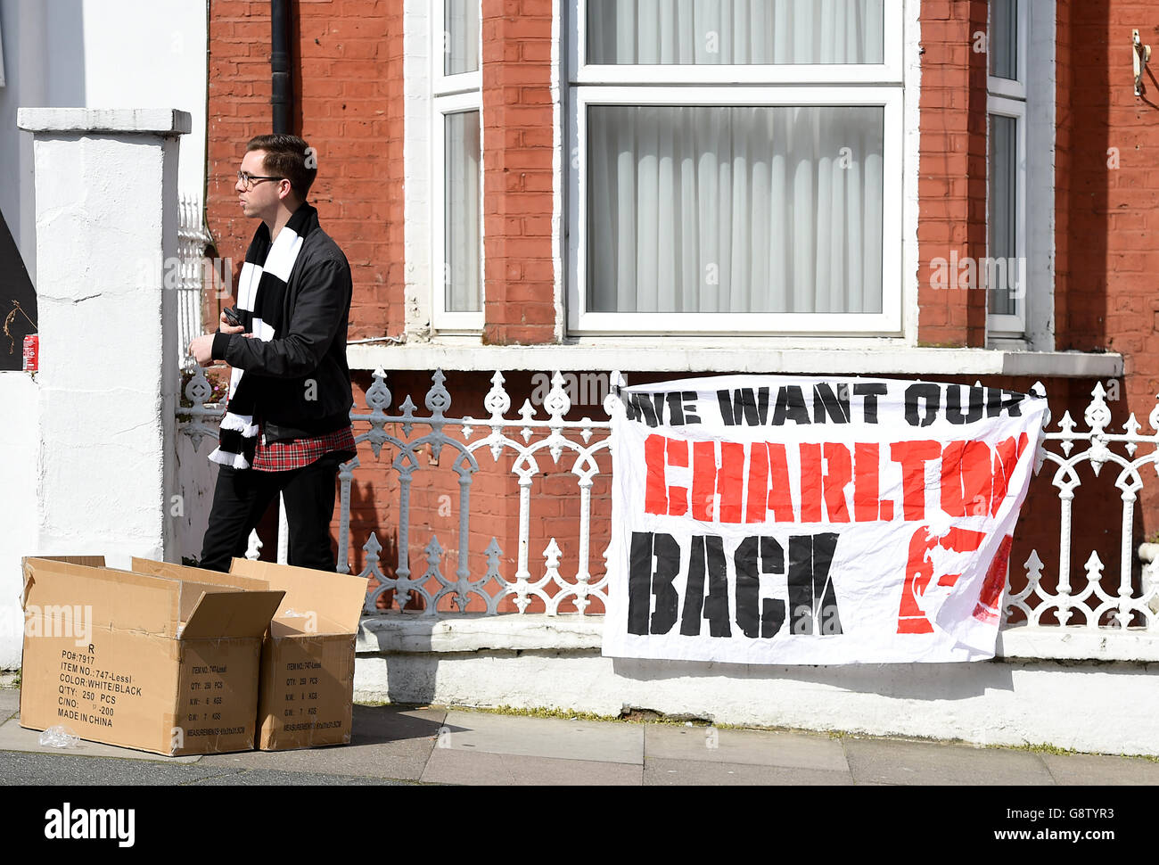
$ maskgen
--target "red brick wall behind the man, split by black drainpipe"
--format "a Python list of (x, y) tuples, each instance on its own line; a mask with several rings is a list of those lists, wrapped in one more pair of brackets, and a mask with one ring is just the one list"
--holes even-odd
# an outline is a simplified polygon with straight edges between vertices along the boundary
[[(318, 151), (309, 201), (353, 276), (350, 339), (396, 335), (403, 321), (402, 0), (302, 0), (291, 130)], [(270, 131), (270, 3), (211, 0), (207, 218), (240, 270), (254, 232), (234, 174), (246, 141)], [(225, 300), (223, 305), (232, 303)]]

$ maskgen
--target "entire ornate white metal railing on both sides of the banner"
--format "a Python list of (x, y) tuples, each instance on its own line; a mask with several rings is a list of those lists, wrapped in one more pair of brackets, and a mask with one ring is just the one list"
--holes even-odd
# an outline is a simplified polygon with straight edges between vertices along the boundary
[[(425, 617), (465, 610), (471, 596), (486, 605), (486, 611), (480, 610), (486, 615), (498, 612), (500, 601), (505, 597), (511, 597), (520, 613), (539, 611), (539, 604), (532, 609), (538, 598), (542, 611), (549, 616), (561, 612), (584, 615), (593, 599), (606, 601), (606, 564), (597, 573), (592, 573), (590, 541), (591, 489), (596, 478), (603, 473), (596, 457), (608, 449), (610, 421), (606, 417), (600, 421), (588, 417), (580, 421), (566, 420), (571, 410), (571, 400), (560, 372), (552, 377), (551, 390), (542, 400), (546, 417), (537, 414), (530, 399), (524, 400), (517, 416), (508, 416), (512, 400), (503, 386), (504, 378), (500, 372), (491, 377), (491, 388), (484, 399), (484, 407), (490, 414), (484, 419), (447, 416), (451, 394), (444, 386), (445, 378), (440, 370), (435, 371), (432, 386), (424, 399), (428, 414), (417, 414), (410, 397), (402, 402), (398, 414), (388, 414), (392, 394), (386, 384), (386, 373), (378, 370), (373, 378), (374, 384), (366, 392), (367, 410), (353, 410), (350, 416), (355, 423), (356, 441), (369, 444), (376, 459), (380, 458), (384, 445), (388, 445), (389, 453), (393, 455), (389, 467), (399, 480), (399, 558), (393, 575), (388, 574), (381, 567), (379, 558), (382, 551), (380, 539), (371, 533), (363, 545), (365, 565), (360, 575), (373, 577), (378, 582), (378, 587), (367, 596), (367, 613), (384, 612), (377, 609), (377, 603), (388, 591), (393, 593), (389, 609), (402, 610), (409, 602), (417, 601), (422, 606), (420, 615)], [(613, 372), (606, 380), (614, 388), (622, 379), (618, 372)], [(1034, 390), (1043, 393), (1041, 384), (1036, 384)], [(217, 435), (216, 421), (220, 408), (202, 405), (209, 393), (209, 384), (198, 372), (187, 386), (187, 397), (194, 402), (194, 408), (181, 410), (187, 420), (180, 424), (182, 432), (195, 437), (195, 446), (202, 436)], [(604, 399), (605, 415), (610, 415), (608, 400), (613, 398), (608, 393)], [(1101, 634), (1128, 628), (1136, 633), (1159, 633), (1159, 613), (1156, 612), (1159, 606), (1159, 580), (1149, 579), (1152, 565), (1142, 569), (1139, 580), (1135, 579), (1132, 539), (1135, 508), (1145, 470), (1159, 473), (1159, 432), (1140, 435), (1140, 424), (1134, 414), (1124, 424), (1123, 434), (1108, 431), (1110, 409), (1105, 398), (1102, 385), (1096, 385), (1084, 414), (1088, 427), (1086, 431), (1076, 429), (1069, 413), (1058, 422), (1057, 430), (1051, 431), (1050, 415), (1047, 416), (1047, 434), (1040, 446), (1036, 478), (1032, 480), (1032, 485), (1050, 482), (1058, 489), (1062, 503), (1058, 579), (1055, 588), (1049, 589), (1048, 586), (1055, 581), (1044, 577), (1044, 566), (1037, 551), (1021, 564), (1025, 574), (1015, 573), (1012, 564), (1003, 616), (1005, 630), (1015, 631), (1020, 625), (1052, 625), (1052, 630), (1065, 626), (1067, 631), (1081, 628)], [(1159, 405), (1149, 420), (1151, 428), (1159, 430)], [(365, 428), (367, 426), (369, 429)], [(418, 431), (422, 434), (417, 435)], [(1143, 451), (1138, 452), (1140, 445)], [(424, 453), (437, 460), (444, 449), (453, 452), (451, 466), (458, 475), (459, 485), (459, 546), (454, 574), (452, 576), (444, 573), (445, 551), (432, 533), (424, 547), (425, 569), (415, 576), (410, 558), (414, 475), (428, 460)], [(469, 548), (472, 481), (480, 471), (479, 456), (484, 451), (490, 452), (496, 465), (502, 455), (513, 456), (511, 473), (518, 479), (519, 486), (518, 554), (513, 574), (504, 573), (502, 550), (496, 538), (482, 551)], [(561, 547), (557, 538), (552, 537), (541, 552), (541, 564), (533, 564), (532, 551), (529, 548), (530, 521), (534, 510), (532, 479), (541, 472), (540, 463), (547, 457), (552, 458), (556, 467), (563, 460), (560, 470), (575, 478), (580, 497), (576, 523), (578, 560), (574, 562), (573, 579), (561, 575)], [(1072, 508), (1076, 492), (1081, 487), (1079, 472), (1084, 464), (1095, 475), (1107, 467), (1117, 468), (1115, 486), (1121, 492), (1122, 500), (1118, 532), (1121, 567), (1117, 581), (1113, 580), (1111, 575), (1103, 573), (1098, 552), (1092, 551), (1087, 559), (1085, 583), (1076, 590), (1070, 574)], [(351, 481), (359, 465), (359, 458), (356, 457), (342, 466), (338, 475), (338, 568), (343, 573), (349, 570)], [(604, 554), (606, 555), (606, 550)], [(1018, 587), (1016, 590), (1012, 589), (1012, 583)], [(1016, 622), (1013, 626), (1012, 617)], [(1057, 619), (1057, 625), (1050, 622), (1051, 617)]]

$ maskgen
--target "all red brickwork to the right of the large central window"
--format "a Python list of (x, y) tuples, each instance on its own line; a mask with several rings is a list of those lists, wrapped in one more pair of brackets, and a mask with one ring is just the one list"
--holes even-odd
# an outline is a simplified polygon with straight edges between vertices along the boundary
[[(1136, 99), (1130, 82), (1130, 31), (1142, 23), (1137, 3), (1059, 0), (1057, 8), (1056, 342), (1059, 350), (1124, 355), (1125, 378), (1103, 381), (1122, 397), (1109, 402), (1109, 429), (1121, 432), (1132, 412), (1146, 424), (1159, 393), (1159, 358), (1146, 351), (1149, 337), (1159, 329), (1159, 299), (1146, 279), (1159, 267), (1159, 242), (1151, 225), (1159, 223), (1159, 172), (1153, 168), (1157, 109)], [(986, 61), (972, 43), (974, 35), (986, 29), (986, 9), (977, 0), (926, 0), (920, 17), (919, 341), (981, 346), (985, 293), (935, 290), (930, 274), (931, 261), (948, 259), (952, 250), (960, 257), (985, 254)], [(1140, 29), (1144, 42), (1159, 43), (1159, 28)], [(1159, 85), (1152, 83), (1151, 90), (1159, 93)], [(1117, 169), (1108, 165), (1109, 147), (1118, 148)], [(1003, 386), (1025, 390), (1032, 384), (1018, 380)], [(1045, 379), (1044, 384), (1051, 397), (1052, 430), (1066, 410), (1085, 428), (1083, 415), (1095, 381)], [(1095, 479), (1085, 467), (1081, 478), (1073, 523), (1073, 586), (1084, 584), (1083, 566), (1092, 550), (1107, 565), (1105, 573), (1117, 574), (1120, 566), (1116, 517), (1122, 501), (1114, 475)], [(1045, 573), (1057, 573), (1058, 518), (1057, 490), (1044, 470), (1032, 484), (1012, 562), (1021, 568), (1035, 547)], [(1153, 481), (1144, 485), (1134, 522), (1136, 541), (1159, 530), (1159, 485)], [(1137, 564), (1134, 567), (1137, 570)]]

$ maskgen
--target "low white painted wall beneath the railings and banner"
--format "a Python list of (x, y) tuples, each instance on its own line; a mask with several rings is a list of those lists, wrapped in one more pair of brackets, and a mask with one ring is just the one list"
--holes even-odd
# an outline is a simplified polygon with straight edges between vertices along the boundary
[(600, 656), (598, 617), (508, 616), (429, 625), (407, 618), (363, 620), (357, 699), (610, 715), (648, 708), (715, 724), (1159, 755), (1154, 662), (1005, 657), (764, 667), (642, 661)]

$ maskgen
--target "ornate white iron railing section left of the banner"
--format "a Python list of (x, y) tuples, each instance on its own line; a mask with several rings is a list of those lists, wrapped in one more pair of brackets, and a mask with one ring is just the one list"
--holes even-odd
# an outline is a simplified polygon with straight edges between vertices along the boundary
[[(350, 419), (355, 424), (355, 442), (370, 445), (374, 458), (381, 456), (384, 446), (389, 446), (393, 458), (391, 468), (399, 479), (399, 523), (398, 523), (398, 564), (393, 575), (382, 568), (380, 554), (382, 543), (371, 532), (363, 545), (365, 565), (359, 576), (372, 577), (378, 586), (367, 594), (365, 611), (382, 612), (378, 599), (387, 593), (393, 593), (391, 609), (402, 610), (413, 599), (421, 604), (422, 616), (437, 616), (447, 604), (446, 598), (459, 611), (467, 609), (472, 595), (486, 604), (486, 615), (498, 612), (500, 602), (510, 596), (518, 612), (526, 612), (538, 598), (544, 611), (549, 616), (560, 612), (585, 615), (592, 601), (606, 603), (607, 568), (600, 566), (598, 573), (592, 573), (591, 564), (591, 489), (602, 473), (597, 456), (610, 448), (607, 435), (611, 422), (605, 417), (595, 421), (584, 417), (580, 421), (568, 421), (566, 415), (571, 410), (571, 400), (566, 390), (566, 380), (555, 372), (551, 380), (551, 390), (544, 399), (547, 416), (537, 416), (531, 399), (525, 399), (516, 417), (508, 417), (511, 408), (511, 397), (504, 390), (504, 378), (501, 372), (491, 377), (491, 388), (483, 400), (488, 417), (449, 417), (451, 394), (444, 386), (445, 376), (436, 370), (432, 386), (428, 391), (424, 405), (429, 414), (416, 414), (416, 406), (408, 395), (400, 407), (399, 414), (387, 414), (393, 395), (386, 381), (386, 373), (377, 370), (373, 373), (374, 384), (366, 392), (365, 413), (352, 410)], [(213, 437), (217, 432), (216, 421), (220, 419), (219, 406), (203, 405), (210, 393), (209, 383), (202, 371), (196, 371), (185, 386), (185, 395), (192, 402), (192, 408), (178, 410), (184, 416), (180, 431), (195, 438), (199, 446), (205, 436)], [(605, 399), (604, 412), (610, 414), (612, 399), (610, 393)], [(363, 426), (369, 429), (363, 430)], [(388, 431), (388, 427), (400, 427), (402, 436)], [(457, 434), (449, 431), (455, 428)], [(416, 428), (428, 430), (414, 436)], [(435, 459), (440, 459), (443, 451), (453, 453), (452, 470), (458, 474), (459, 482), (459, 525), (458, 555), (454, 574), (444, 573), (445, 550), (436, 535), (431, 535), (424, 548), (425, 568), (415, 575), (410, 558), (411, 530), (411, 487), (415, 472), (423, 465), (423, 452), (429, 452)], [(515, 456), (511, 468), (518, 479), (518, 550), (516, 569), (506, 574), (502, 566), (503, 551), (498, 539), (493, 537), (490, 544), (482, 551), (471, 550), (471, 489), (474, 475), (480, 471), (476, 453), (489, 451), (497, 463), (501, 456)], [(552, 537), (539, 553), (541, 565), (534, 561), (534, 551), (530, 548), (530, 528), (533, 510), (531, 486), (532, 479), (541, 473), (545, 460), (562, 467), (575, 478), (576, 492), (580, 499), (580, 517), (577, 522), (578, 554), (575, 579), (566, 579), (560, 573), (562, 551), (559, 540)], [(349, 573), (349, 537), (350, 537), (350, 496), (355, 471), (359, 467), (359, 458), (344, 463), (338, 470), (340, 484), (340, 530), (338, 530), (338, 570)], [(284, 519), (279, 538), (284, 538), (286, 526)], [(284, 560), (284, 544), (279, 559)], [(250, 553), (256, 555), (256, 545)], [(606, 550), (603, 551), (606, 554)], [(473, 574), (480, 574), (472, 579)], [(435, 588), (437, 587), (437, 588)]]

